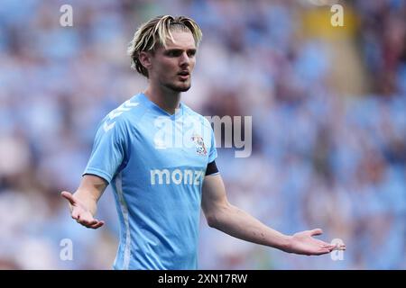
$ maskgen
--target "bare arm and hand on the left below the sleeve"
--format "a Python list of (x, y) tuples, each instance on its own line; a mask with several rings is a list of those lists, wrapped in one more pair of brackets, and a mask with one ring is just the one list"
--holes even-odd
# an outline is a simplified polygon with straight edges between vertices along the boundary
[(106, 180), (97, 175), (84, 175), (76, 193), (63, 191), (62, 197), (69, 201), (71, 217), (85, 227), (97, 229), (105, 223), (94, 218), (97, 201), (106, 190)]

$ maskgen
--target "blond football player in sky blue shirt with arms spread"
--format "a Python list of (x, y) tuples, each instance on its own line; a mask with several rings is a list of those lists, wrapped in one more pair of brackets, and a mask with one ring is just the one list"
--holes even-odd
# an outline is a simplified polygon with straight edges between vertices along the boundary
[(101, 121), (76, 193), (62, 192), (71, 217), (97, 229), (97, 201), (112, 184), (120, 220), (115, 269), (196, 269), (200, 205), (208, 225), (286, 252), (321, 255), (335, 247), (312, 236), (283, 235), (231, 205), (218, 173), (209, 122), (180, 102), (189, 90), (201, 40), (187, 17), (144, 23), (129, 48), (148, 87)]

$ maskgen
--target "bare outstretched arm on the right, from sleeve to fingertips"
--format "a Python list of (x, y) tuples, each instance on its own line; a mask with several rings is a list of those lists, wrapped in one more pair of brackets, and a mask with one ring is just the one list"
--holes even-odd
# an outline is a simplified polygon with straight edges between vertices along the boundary
[(282, 251), (303, 255), (322, 255), (336, 247), (312, 238), (320, 235), (321, 229), (302, 231), (293, 236), (271, 229), (245, 211), (231, 205), (226, 198), (226, 189), (221, 175), (207, 175), (203, 182), (202, 209), (208, 226), (226, 234), (257, 244), (275, 247)]

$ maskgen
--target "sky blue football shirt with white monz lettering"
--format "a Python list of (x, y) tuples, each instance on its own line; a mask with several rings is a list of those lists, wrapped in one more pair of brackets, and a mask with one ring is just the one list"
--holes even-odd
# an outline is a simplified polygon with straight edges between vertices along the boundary
[(201, 188), (217, 150), (208, 120), (137, 94), (100, 122), (85, 174), (115, 192), (115, 269), (196, 269)]

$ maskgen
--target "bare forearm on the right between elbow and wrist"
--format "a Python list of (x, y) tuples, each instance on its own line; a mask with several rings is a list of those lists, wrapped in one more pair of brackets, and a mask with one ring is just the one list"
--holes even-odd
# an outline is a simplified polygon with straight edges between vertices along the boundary
[(291, 236), (271, 229), (260, 220), (237, 207), (226, 204), (218, 207), (208, 220), (210, 227), (245, 241), (288, 251)]

